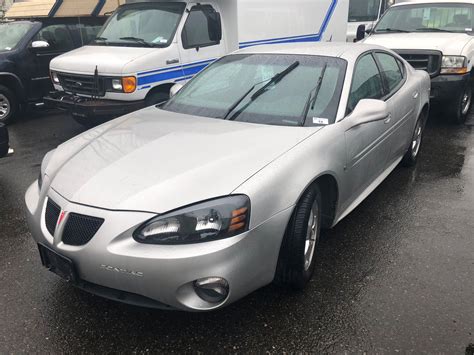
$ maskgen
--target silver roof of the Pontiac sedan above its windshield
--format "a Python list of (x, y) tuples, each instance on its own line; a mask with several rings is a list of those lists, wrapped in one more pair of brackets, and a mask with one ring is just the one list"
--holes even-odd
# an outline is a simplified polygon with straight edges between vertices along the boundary
[(234, 54), (296, 54), (355, 59), (370, 50), (390, 51), (382, 46), (346, 43), (346, 42), (317, 42), (261, 45), (240, 49)]

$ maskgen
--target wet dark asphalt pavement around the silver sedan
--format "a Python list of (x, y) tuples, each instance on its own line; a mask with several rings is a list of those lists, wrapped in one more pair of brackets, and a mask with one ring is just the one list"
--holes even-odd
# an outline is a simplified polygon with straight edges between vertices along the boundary
[[(269, 286), (221, 311), (141, 309), (40, 266), (23, 207), (41, 158), (81, 132), (46, 113), (10, 126), (0, 161), (0, 353), (321, 351), (462, 354), (474, 343), (474, 118), (430, 118), (419, 165), (397, 168), (334, 230), (302, 293)], [(159, 285), (157, 285), (159, 287)]]

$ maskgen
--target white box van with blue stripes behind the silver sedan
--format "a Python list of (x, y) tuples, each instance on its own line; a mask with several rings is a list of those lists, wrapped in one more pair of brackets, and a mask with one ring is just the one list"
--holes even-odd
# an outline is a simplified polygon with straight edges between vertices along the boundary
[(345, 41), (348, 0), (127, 2), (88, 46), (51, 62), (45, 100), (88, 124), (167, 100), (217, 58), (273, 43)]

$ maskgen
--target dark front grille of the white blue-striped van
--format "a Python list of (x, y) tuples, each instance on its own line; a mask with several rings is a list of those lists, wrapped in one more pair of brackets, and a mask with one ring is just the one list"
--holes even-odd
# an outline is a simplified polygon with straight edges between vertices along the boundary
[(101, 77), (58, 73), (58, 78), (64, 91), (90, 96), (105, 95), (104, 79)]

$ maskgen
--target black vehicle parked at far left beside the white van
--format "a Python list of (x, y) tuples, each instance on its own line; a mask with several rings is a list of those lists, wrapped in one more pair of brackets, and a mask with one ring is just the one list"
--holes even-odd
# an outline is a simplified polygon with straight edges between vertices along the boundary
[(0, 122), (53, 89), (49, 62), (92, 41), (104, 17), (38, 18), (0, 23)]

